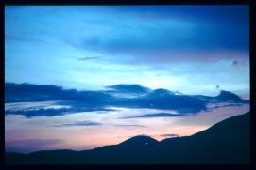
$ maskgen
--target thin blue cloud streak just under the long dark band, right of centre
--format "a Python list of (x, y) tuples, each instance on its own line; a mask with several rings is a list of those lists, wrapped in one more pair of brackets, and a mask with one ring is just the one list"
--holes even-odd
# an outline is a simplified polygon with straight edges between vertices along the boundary
[(156, 114), (145, 114), (142, 116), (125, 116), (120, 117), (121, 119), (127, 118), (154, 118), (154, 117), (175, 117), (175, 116), (188, 116), (186, 114), (167, 114), (167, 113), (156, 113)]

